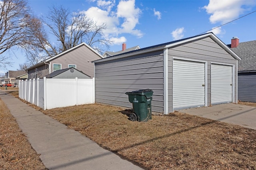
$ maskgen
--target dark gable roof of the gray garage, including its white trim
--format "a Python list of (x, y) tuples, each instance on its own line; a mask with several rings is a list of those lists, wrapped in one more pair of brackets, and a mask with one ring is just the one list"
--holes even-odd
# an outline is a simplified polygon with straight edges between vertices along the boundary
[(114, 56), (107, 57), (107, 58), (104, 58), (104, 59), (99, 59), (99, 60), (96, 60), (96, 61), (92, 61), (92, 63), (110, 61), (110, 60), (114, 60), (114, 59), (129, 57), (129, 56), (132, 56), (132, 55), (139, 55), (139, 54), (143, 54), (143, 53), (149, 53), (149, 52), (152, 52), (152, 51), (163, 50), (163, 49), (166, 49), (166, 48), (174, 47), (174, 46), (177, 46), (177, 45), (181, 45), (183, 43), (188, 43), (190, 41), (194, 41), (194, 40), (197, 40), (197, 39), (202, 39), (202, 38), (205, 38), (205, 37), (211, 37), (216, 43), (218, 43), (218, 45), (220, 45), (230, 55), (232, 55), (232, 57), (234, 57), (237, 60), (241, 60), (241, 58), (238, 57), (238, 55), (236, 55), (236, 53), (234, 53), (218, 37), (216, 37), (216, 35), (214, 35), (213, 33), (205, 33), (205, 34), (201, 34), (201, 35), (196, 35), (194, 37), (188, 37), (188, 38), (184, 38), (184, 39), (180, 39), (180, 40), (176, 40), (176, 41), (171, 41), (171, 42), (168, 42), (168, 43), (163, 43), (163, 44), (158, 44), (158, 45), (138, 49), (138, 50), (135, 50), (135, 51), (129, 51), (129, 52), (122, 53), (122, 54), (119, 54), (119, 55), (114, 55)]

